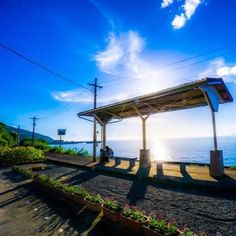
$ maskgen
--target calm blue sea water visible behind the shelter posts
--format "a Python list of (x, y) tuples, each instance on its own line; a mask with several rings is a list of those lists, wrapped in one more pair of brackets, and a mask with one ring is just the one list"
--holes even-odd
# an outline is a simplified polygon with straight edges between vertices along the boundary
[[(141, 140), (112, 140), (107, 141), (115, 153), (115, 156), (139, 157)], [(92, 144), (67, 144), (65, 148), (84, 148), (92, 153)], [(196, 163), (209, 163), (209, 151), (213, 149), (212, 138), (179, 138), (149, 140), (147, 147), (150, 149), (151, 158), (155, 160), (184, 161)], [(97, 155), (101, 144), (98, 144)], [(224, 165), (236, 165), (236, 137), (218, 137), (218, 149), (223, 150)]]

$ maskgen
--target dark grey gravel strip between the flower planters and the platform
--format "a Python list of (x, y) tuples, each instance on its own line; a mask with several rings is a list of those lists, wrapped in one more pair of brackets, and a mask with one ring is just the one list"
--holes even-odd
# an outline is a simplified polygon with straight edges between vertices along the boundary
[(147, 214), (163, 214), (196, 233), (236, 235), (236, 193), (212, 192), (198, 188), (169, 186), (148, 179), (112, 174), (112, 172), (49, 164), (40, 171), (52, 178), (81, 185), (92, 193), (112, 197), (123, 204), (136, 205)]

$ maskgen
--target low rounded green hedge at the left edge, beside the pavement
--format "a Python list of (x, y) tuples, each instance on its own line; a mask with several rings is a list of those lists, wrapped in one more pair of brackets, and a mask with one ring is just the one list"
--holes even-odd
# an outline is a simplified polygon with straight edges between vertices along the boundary
[(0, 147), (0, 164), (14, 165), (45, 160), (43, 151), (33, 147)]

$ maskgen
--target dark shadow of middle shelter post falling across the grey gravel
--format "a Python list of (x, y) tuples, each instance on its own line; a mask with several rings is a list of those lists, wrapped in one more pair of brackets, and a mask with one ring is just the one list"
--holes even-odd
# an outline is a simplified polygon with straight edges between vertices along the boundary
[(133, 184), (127, 194), (127, 199), (130, 205), (136, 205), (137, 201), (143, 200), (145, 198), (148, 181), (144, 181), (141, 177), (147, 177), (149, 175), (150, 168), (139, 168), (137, 174), (140, 179), (135, 179)]

